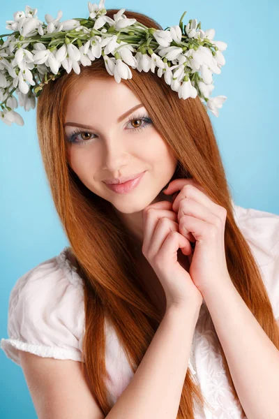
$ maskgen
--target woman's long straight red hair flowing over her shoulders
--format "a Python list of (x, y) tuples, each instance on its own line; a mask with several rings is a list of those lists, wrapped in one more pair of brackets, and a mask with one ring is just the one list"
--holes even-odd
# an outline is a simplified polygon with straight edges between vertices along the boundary
[[(113, 17), (118, 11), (109, 9), (107, 16)], [(163, 29), (141, 13), (126, 10), (125, 15), (146, 27)], [(121, 82), (144, 104), (156, 130), (176, 154), (178, 164), (172, 179), (192, 177), (214, 202), (226, 208), (225, 251), (230, 277), (266, 335), (279, 349), (271, 302), (250, 247), (234, 221), (225, 170), (203, 103), (199, 97), (179, 99), (177, 92), (151, 71), (140, 73), (133, 68), (131, 71), (133, 78)], [(71, 71), (46, 84), (38, 97), (37, 130), (54, 205), (84, 284), (82, 371), (86, 372), (92, 395), (107, 416), (112, 406), (105, 383), (105, 316), (114, 326), (134, 373), (162, 317), (140, 281), (135, 243), (126, 226), (116, 216), (112, 204), (87, 189), (69, 166), (64, 111), (68, 91), (80, 77), (112, 78), (103, 59), (96, 59), (91, 66), (81, 66), (80, 75)], [(229, 385), (240, 404), (219, 340), (218, 344)], [(177, 418), (194, 419), (194, 398), (200, 405), (206, 403), (188, 369)], [(242, 414), (244, 417), (243, 410)]]

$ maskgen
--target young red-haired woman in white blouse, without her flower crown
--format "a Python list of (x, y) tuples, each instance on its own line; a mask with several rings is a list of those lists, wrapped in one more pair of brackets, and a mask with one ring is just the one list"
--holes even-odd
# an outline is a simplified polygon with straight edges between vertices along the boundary
[(234, 205), (199, 98), (97, 59), (37, 112), (70, 246), (17, 280), (1, 347), (38, 417), (275, 418), (279, 216)]

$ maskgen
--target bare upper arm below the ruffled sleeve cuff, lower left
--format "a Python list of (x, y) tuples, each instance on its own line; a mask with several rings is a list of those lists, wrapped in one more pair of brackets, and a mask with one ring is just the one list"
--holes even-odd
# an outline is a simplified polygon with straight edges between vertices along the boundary
[(103, 419), (82, 375), (81, 362), (19, 351), (38, 419)]

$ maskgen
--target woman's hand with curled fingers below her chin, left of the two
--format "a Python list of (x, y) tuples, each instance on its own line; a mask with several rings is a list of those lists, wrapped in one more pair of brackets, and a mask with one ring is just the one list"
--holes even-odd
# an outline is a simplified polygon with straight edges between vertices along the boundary
[(189, 241), (179, 233), (177, 214), (172, 211), (172, 203), (161, 201), (144, 208), (144, 242), (142, 253), (149, 261), (162, 284), (170, 306), (202, 305), (202, 294), (177, 259), (177, 251), (192, 253)]

